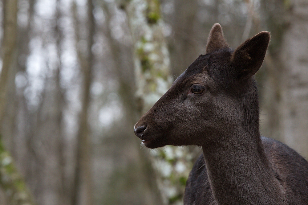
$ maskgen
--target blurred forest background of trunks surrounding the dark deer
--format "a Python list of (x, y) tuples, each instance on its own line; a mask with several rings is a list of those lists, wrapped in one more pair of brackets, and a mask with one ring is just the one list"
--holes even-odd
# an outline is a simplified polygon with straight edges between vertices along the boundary
[(0, 8), (1, 205), (182, 204), (199, 148), (144, 149), (133, 125), (205, 53), (214, 23), (232, 47), (271, 32), (256, 76), (261, 133), (308, 158), (307, 0), (2, 0)]

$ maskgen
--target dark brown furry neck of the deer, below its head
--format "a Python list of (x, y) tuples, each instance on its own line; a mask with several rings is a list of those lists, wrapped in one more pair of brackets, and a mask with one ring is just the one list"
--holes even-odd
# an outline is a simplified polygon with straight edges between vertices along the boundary
[(284, 204), (259, 131), (229, 132), (202, 146), (213, 195), (222, 204)]

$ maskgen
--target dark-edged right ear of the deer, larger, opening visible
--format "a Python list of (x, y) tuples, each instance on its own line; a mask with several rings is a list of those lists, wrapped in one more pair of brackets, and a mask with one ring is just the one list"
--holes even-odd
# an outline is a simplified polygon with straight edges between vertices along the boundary
[(235, 49), (231, 56), (231, 62), (238, 70), (239, 78), (249, 78), (259, 70), (269, 42), (270, 32), (262, 31)]

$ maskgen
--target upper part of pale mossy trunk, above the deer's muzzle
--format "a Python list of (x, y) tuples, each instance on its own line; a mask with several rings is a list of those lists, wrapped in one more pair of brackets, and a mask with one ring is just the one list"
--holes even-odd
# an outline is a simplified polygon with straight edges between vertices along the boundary
[(145, 113), (172, 84), (169, 52), (157, 0), (133, 0), (126, 11), (134, 44), (138, 111)]

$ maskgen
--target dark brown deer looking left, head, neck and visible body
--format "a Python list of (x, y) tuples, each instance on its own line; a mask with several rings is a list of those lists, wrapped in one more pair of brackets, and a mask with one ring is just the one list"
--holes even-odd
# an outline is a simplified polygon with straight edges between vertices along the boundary
[(206, 53), (134, 126), (148, 148), (202, 148), (186, 182), (185, 205), (307, 205), (308, 162), (259, 130), (254, 74), (270, 32), (233, 49), (221, 25), (212, 27)]

